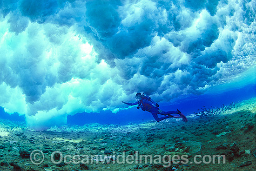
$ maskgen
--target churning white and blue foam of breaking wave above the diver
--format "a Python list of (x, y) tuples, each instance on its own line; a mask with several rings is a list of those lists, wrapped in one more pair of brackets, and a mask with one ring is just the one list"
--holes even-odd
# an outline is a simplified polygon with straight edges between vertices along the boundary
[(0, 1), (0, 106), (42, 130), (79, 112), (126, 110), (120, 102), (136, 92), (164, 104), (214, 91), (256, 66), (255, 7), (253, 0)]

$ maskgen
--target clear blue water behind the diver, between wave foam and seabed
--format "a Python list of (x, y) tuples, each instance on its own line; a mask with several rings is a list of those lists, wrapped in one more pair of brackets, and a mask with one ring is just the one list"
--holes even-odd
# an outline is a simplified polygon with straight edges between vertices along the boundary
[[(236, 79), (210, 88), (201, 95), (189, 94), (175, 98), (168, 103), (159, 103), (163, 111), (176, 111), (179, 109), (184, 115), (193, 114), (201, 108), (221, 107), (232, 102), (240, 102), (256, 97), (256, 67), (243, 72)], [(79, 113), (67, 116), (70, 125), (84, 125), (88, 123), (120, 124), (140, 123), (154, 120), (149, 112), (143, 112), (135, 107), (117, 112)]]

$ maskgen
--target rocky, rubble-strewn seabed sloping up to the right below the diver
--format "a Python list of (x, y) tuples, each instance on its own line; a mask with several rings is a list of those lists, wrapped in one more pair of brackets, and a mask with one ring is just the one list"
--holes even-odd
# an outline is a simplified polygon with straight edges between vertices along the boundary
[(35, 132), (25, 123), (2, 119), (0, 170), (256, 171), (256, 98), (188, 120), (92, 123)]

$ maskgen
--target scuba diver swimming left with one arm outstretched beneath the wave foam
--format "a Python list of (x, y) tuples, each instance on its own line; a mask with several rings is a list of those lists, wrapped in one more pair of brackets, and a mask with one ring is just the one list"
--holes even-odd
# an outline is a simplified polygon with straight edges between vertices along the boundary
[[(141, 108), (142, 111), (150, 112), (157, 122), (166, 118), (182, 118), (184, 122), (188, 122), (188, 119), (178, 109), (177, 111), (164, 112), (161, 109), (159, 109), (159, 105), (155, 103), (153, 99), (151, 99), (149, 96), (145, 96), (144, 94), (142, 95), (140, 92), (138, 92), (135, 95), (135, 98), (137, 99), (135, 103), (128, 103), (124, 101), (122, 101), (121, 103), (124, 103), (126, 105), (139, 105), (137, 109)], [(162, 118), (159, 118), (157, 114), (161, 114), (165, 116)], [(180, 116), (173, 116), (171, 114), (178, 114)]]

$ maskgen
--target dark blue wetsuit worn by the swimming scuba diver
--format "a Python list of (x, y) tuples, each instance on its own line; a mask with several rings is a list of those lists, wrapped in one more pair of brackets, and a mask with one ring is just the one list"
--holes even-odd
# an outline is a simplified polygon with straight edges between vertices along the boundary
[[(160, 110), (158, 107), (153, 106), (153, 104), (151, 102), (149, 102), (148, 100), (146, 100), (146, 99), (142, 99), (141, 103), (139, 101), (136, 101), (135, 103), (127, 103), (127, 102), (125, 102), (125, 104), (127, 104), (127, 105), (141, 105), (141, 109), (143, 111), (150, 112), (157, 122), (159, 122), (159, 121), (161, 121), (163, 119), (166, 119), (166, 118), (182, 118), (181, 116), (172, 116), (171, 115), (171, 114), (179, 114), (176, 111), (164, 112), (164, 111)], [(168, 115), (168, 116), (164, 116), (162, 118), (159, 118), (157, 114)]]

